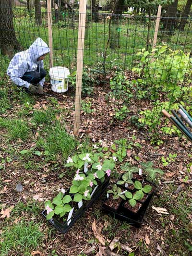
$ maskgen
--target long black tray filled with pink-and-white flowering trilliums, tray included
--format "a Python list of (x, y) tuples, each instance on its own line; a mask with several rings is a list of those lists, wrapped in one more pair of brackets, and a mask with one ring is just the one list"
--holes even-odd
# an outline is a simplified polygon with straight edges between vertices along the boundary
[(106, 189), (115, 164), (112, 158), (103, 160), (86, 153), (69, 157), (65, 166), (78, 168), (72, 185), (66, 192), (56, 195), (52, 202), (48, 200), (42, 212), (43, 217), (63, 233), (72, 227)]

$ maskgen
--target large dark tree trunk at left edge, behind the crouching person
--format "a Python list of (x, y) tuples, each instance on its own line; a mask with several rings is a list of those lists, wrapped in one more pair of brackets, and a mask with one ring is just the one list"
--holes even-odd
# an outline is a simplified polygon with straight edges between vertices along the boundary
[(0, 49), (9, 57), (14, 55), (14, 50), (21, 49), (13, 26), (12, 0), (0, 0)]

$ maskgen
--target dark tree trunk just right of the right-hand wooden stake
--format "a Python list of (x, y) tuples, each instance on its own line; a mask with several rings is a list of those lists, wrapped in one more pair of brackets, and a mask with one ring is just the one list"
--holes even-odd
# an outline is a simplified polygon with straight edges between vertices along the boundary
[(172, 35), (175, 31), (176, 24), (177, 24), (177, 18), (176, 18), (176, 12), (177, 12), (177, 5), (178, 0), (175, 0), (172, 4), (168, 6), (168, 12), (164, 18), (164, 26), (163, 30), (166, 31), (167, 34)]

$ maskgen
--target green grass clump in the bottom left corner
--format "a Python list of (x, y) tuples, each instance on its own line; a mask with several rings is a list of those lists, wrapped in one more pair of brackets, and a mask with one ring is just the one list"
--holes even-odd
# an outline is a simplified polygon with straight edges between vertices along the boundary
[(0, 256), (30, 256), (42, 243), (43, 233), (39, 224), (33, 221), (21, 221), (2, 230), (0, 240)]

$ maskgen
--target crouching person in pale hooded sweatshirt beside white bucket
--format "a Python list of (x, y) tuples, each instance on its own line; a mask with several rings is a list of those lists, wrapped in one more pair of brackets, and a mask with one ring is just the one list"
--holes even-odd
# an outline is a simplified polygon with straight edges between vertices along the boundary
[(49, 51), (48, 45), (37, 38), (29, 49), (16, 53), (7, 69), (12, 82), (31, 93), (42, 94), (47, 74), (43, 60)]

